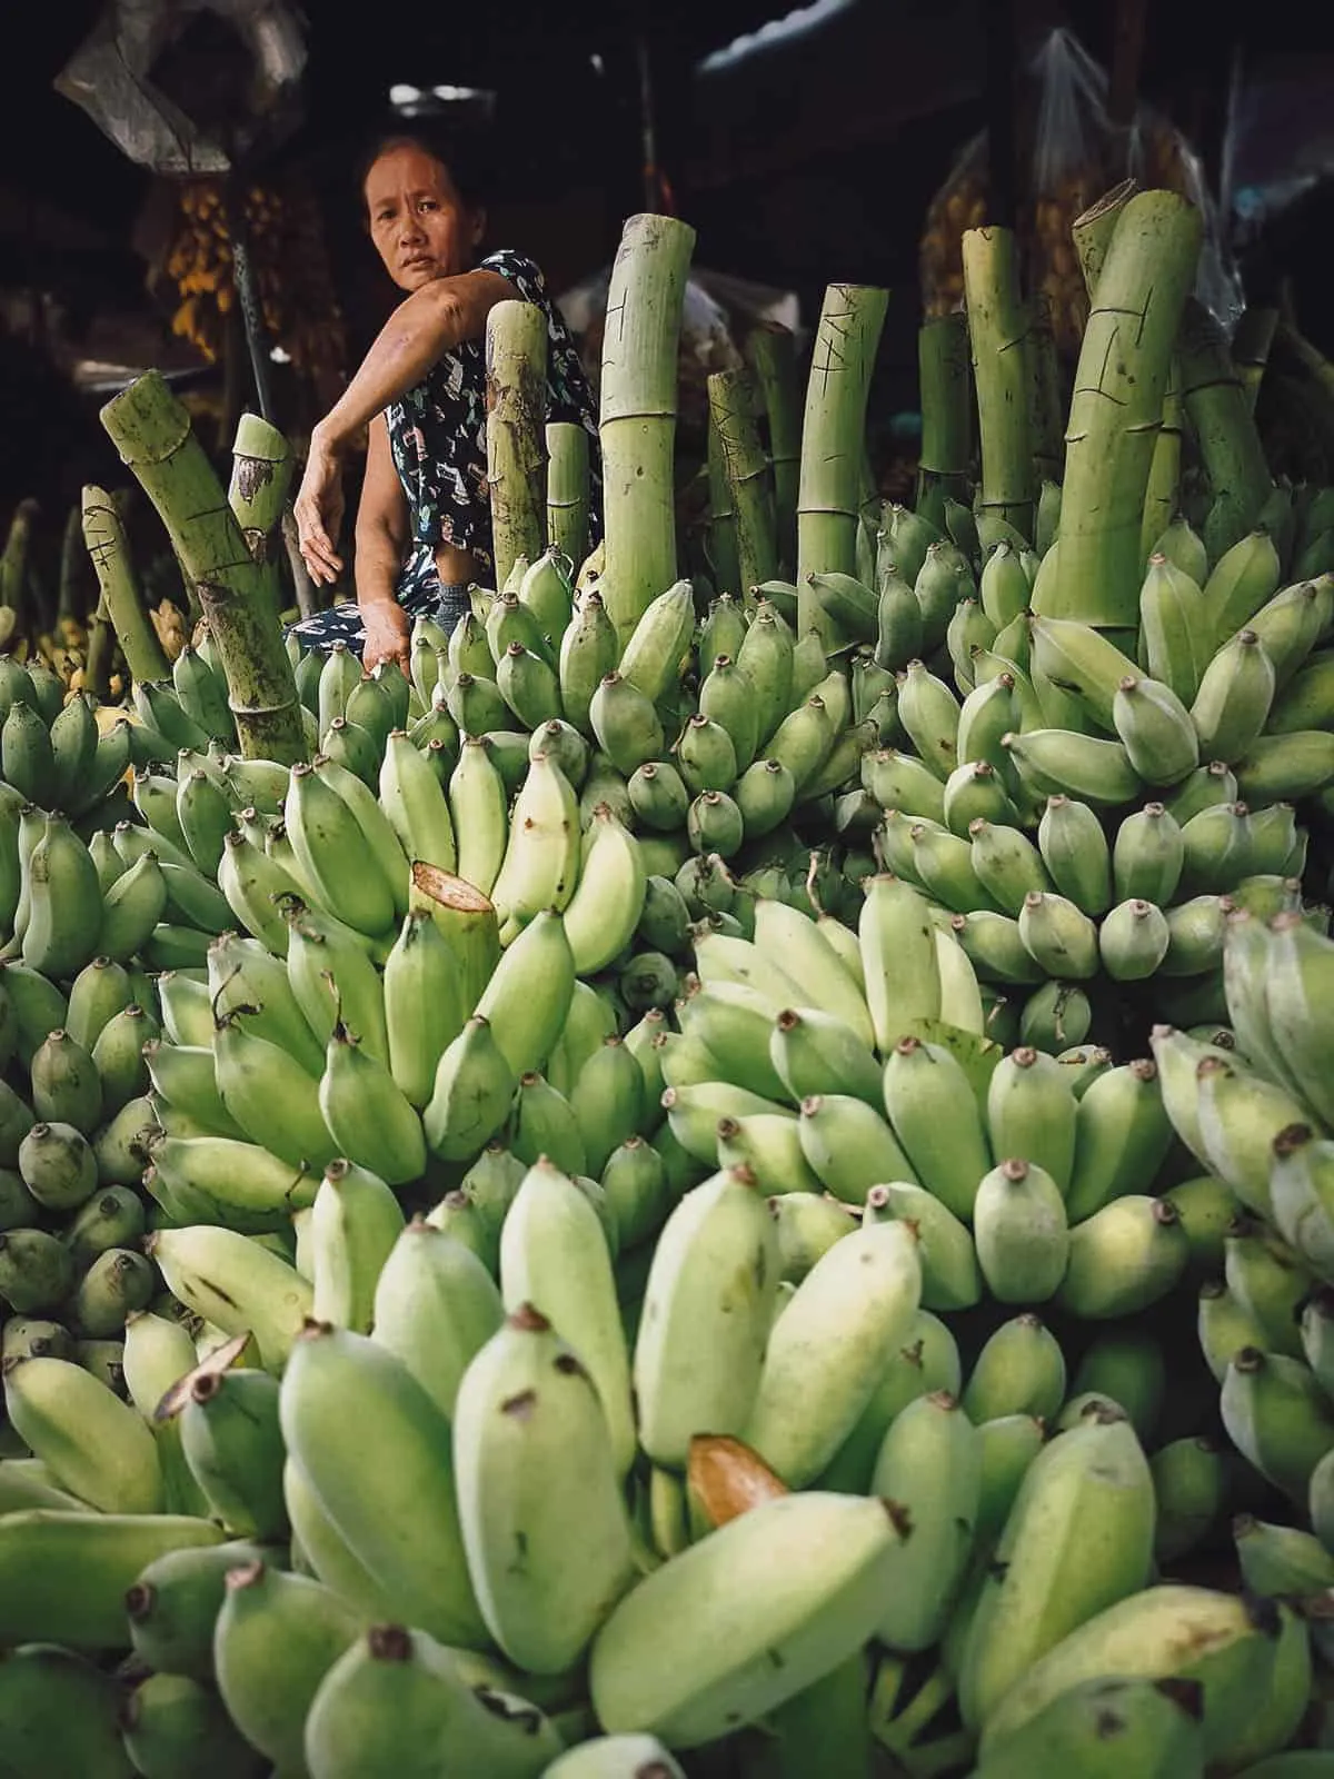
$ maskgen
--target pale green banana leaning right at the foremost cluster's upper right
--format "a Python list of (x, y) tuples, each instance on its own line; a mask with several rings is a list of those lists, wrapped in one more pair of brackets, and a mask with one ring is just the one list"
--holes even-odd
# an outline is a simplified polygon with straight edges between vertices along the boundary
[(880, 1354), (904, 1338), (920, 1295), (916, 1236), (893, 1222), (836, 1242), (797, 1286), (770, 1334), (742, 1432), (790, 1487), (818, 1477), (852, 1432)]

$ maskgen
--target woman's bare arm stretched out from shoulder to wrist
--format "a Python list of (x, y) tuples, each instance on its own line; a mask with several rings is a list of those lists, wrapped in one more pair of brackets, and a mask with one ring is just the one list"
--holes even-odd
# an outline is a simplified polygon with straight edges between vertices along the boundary
[(500, 272), (478, 269), (436, 278), (404, 297), (347, 390), (315, 427), (322, 447), (333, 454), (343, 450), (374, 415), (414, 388), (443, 352), (462, 340), (480, 340), (491, 310), (512, 295), (514, 286)]

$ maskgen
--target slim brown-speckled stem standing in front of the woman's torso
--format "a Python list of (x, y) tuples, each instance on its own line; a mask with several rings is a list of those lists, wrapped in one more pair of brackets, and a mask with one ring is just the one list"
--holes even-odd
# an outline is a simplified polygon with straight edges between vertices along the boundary
[(486, 479), (496, 587), (546, 548), (546, 317), (496, 302), (486, 318)]

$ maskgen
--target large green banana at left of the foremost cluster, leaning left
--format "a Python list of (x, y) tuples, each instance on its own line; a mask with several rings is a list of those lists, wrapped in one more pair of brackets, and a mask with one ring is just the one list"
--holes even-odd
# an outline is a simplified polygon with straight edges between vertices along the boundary
[[(313, 1322), (283, 1373), (279, 1414), (288, 1455), (398, 1612), (432, 1635), (484, 1647), (450, 1423), (411, 1372), (366, 1336)], [(368, 1466), (368, 1450), (391, 1457)], [(416, 1535), (420, 1525), (429, 1539)]]

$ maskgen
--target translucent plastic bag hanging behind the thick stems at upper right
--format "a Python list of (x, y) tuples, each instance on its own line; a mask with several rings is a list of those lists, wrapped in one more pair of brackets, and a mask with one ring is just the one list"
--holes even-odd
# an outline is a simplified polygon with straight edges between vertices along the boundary
[[(1226, 258), (1199, 160), (1181, 132), (1149, 105), (1140, 105), (1129, 128), (1115, 125), (1106, 109), (1106, 71), (1064, 27), (1049, 32), (1032, 57), (1025, 98), (1028, 190), (1016, 222), (1028, 288), (1046, 299), (1057, 349), (1074, 358), (1089, 320), (1071, 224), (1128, 173), (1144, 187), (1181, 192), (1201, 208), (1204, 246), (1195, 294), (1231, 329), (1242, 311), (1240, 283)], [(962, 306), (962, 235), (987, 221), (987, 197), (984, 132), (964, 146), (927, 212), (920, 249), (927, 315)]]

